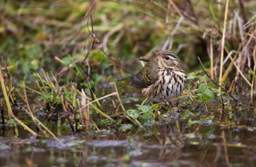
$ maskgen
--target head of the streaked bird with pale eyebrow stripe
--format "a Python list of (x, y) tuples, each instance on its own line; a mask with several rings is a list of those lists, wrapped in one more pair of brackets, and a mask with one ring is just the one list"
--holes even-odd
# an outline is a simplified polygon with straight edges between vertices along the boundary
[(176, 67), (179, 65), (179, 58), (177, 54), (171, 51), (153, 52), (158, 58), (159, 67)]

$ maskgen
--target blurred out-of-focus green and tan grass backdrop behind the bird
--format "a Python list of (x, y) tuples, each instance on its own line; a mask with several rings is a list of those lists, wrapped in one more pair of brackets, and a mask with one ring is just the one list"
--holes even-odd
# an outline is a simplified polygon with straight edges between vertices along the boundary
[(227, 2), (224, 55), (243, 44), (246, 49), (239, 57), (244, 61), (237, 61), (246, 72), (248, 68), (242, 67), (253, 69), (255, 60), (255, 36), (247, 36), (248, 44), (243, 41), (248, 31), (255, 34), (253, 0), (1, 0), (0, 54), (17, 77), (29, 77), (29, 70), (39, 68), (60, 72), (63, 64), (56, 59), (68, 64), (88, 56), (84, 67), (90, 65), (90, 76), (100, 81), (103, 70), (107, 76), (120, 78), (120, 72), (116, 72), (120, 68), (109, 65), (113, 62), (100, 47), (132, 73), (141, 68), (136, 58), (159, 49), (177, 52), (187, 72), (200, 69), (198, 56), (208, 68), (212, 47), (214, 76), (218, 77)]

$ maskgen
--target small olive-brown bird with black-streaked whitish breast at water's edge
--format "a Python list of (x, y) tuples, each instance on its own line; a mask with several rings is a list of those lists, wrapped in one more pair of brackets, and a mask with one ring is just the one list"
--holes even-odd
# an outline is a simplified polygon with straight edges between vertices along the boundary
[(172, 102), (186, 85), (186, 74), (179, 57), (172, 51), (154, 51), (145, 66), (131, 77), (131, 86), (142, 88), (142, 94), (150, 102)]

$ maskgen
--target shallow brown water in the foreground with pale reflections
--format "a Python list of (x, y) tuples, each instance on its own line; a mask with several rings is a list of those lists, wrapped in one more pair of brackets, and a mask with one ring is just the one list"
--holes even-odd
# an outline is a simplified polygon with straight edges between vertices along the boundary
[[(212, 102), (206, 121), (170, 120), (131, 131), (106, 130), (37, 139), (24, 129), (1, 127), (0, 166), (254, 166), (256, 108), (228, 111)], [(31, 126), (33, 127), (33, 126)], [(55, 127), (52, 127), (54, 131)], [(35, 129), (35, 128), (34, 128)]]

